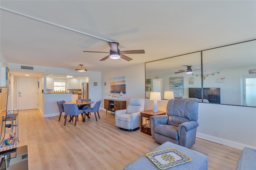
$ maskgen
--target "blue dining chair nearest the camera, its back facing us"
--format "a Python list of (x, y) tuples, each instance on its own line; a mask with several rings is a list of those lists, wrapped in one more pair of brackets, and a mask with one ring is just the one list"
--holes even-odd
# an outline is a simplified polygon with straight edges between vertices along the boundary
[[(75, 117), (75, 126), (76, 126), (76, 121), (78, 119), (78, 115), (81, 114), (82, 118), (84, 119), (84, 111), (83, 110), (79, 110), (76, 104), (66, 104), (63, 103), (64, 106), (64, 110), (65, 110), (65, 122), (64, 122), (64, 126), (66, 125), (66, 121), (67, 121), (67, 116), (70, 115), (72, 117)], [(71, 120), (71, 119), (70, 119)]]

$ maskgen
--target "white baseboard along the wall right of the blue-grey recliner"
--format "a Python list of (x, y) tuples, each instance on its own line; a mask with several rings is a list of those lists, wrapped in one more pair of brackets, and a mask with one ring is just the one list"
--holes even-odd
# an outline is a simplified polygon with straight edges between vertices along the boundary
[(200, 138), (200, 139), (208, 140), (208, 141), (211, 141), (211, 142), (214, 142), (214, 143), (223, 144), (225, 146), (230, 146), (232, 148), (237, 148), (237, 149), (240, 149), (240, 150), (242, 150), (244, 147), (256, 149), (255, 146), (250, 146), (250, 145), (234, 142), (232, 140), (227, 140), (227, 139), (218, 138), (218, 137), (215, 137), (215, 136), (210, 136), (208, 134), (203, 134), (203, 133), (198, 133), (197, 132), (196, 137)]

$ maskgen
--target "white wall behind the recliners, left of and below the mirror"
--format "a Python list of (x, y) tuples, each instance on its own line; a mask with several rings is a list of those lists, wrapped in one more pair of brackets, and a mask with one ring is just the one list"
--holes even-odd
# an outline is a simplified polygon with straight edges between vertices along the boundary
[[(102, 100), (108, 99), (110, 78), (126, 77), (126, 94), (145, 98), (144, 63), (102, 73)], [(107, 86), (104, 86), (107, 82)], [(167, 100), (158, 101), (158, 110), (166, 111)], [(153, 101), (145, 99), (145, 110), (153, 109)], [(256, 107), (199, 103), (197, 137), (242, 149), (256, 148)]]

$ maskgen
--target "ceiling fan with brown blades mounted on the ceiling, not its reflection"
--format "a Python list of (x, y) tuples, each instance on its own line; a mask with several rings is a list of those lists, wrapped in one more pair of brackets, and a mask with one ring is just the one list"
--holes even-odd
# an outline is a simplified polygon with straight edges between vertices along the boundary
[(128, 50), (128, 51), (120, 51), (118, 49), (118, 42), (108, 42), (109, 46), (110, 46), (110, 52), (101, 52), (101, 51), (84, 51), (84, 52), (90, 52), (90, 53), (109, 53), (108, 56), (102, 58), (100, 61), (104, 61), (108, 58), (111, 59), (120, 59), (120, 57), (122, 59), (125, 59), (127, 61), (131, 61), (132, 58), (124, 55), (124, 54), (144, 54), (145, 51), (144, 49), (138, 49), (138, 50)]

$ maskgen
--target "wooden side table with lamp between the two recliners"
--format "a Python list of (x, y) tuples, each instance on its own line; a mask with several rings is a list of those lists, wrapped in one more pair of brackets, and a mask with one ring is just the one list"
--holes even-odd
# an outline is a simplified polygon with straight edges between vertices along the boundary
[[(140, 131), (142, 133), (146, 133), (151, 136), (150, 120), (149, 120), (150, 116), (165, 115), (165, 114), (166, 114), (166, 112), (164, 112), (164, 111), (153, 112), (153, 110), (140, 112)], [(146, 124), (143, 125), (144, 120), (145, 120)]]

